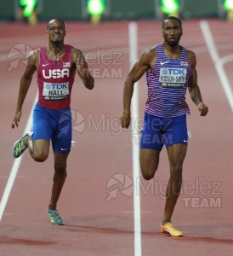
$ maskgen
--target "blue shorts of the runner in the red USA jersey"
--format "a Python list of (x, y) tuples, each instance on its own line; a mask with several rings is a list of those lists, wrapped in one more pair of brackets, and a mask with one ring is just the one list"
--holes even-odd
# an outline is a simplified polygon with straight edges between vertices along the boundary
[(52, 142), (54, 152), (67, 154), (71, 151), (71, 108), (48, 109), (36, 104), (33, 111), (32, 140)]

